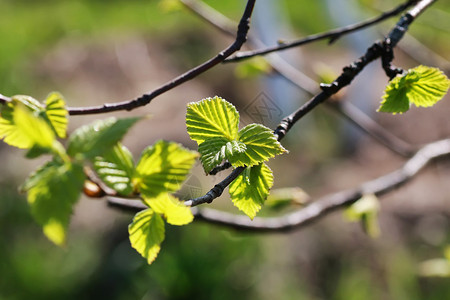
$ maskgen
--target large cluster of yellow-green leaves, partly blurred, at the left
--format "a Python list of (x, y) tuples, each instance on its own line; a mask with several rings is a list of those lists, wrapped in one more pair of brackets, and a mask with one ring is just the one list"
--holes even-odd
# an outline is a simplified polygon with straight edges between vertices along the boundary
[(151, 263), (164, 239), (164, 220), (173, 225), (193, 220), (189, 208), (170, 193), (180, 188), (198, 154), (158, 141), (135, 164), (120, 140), (139, 118), (94, 121), (75, 130), (65, 148), (57, 139), (67, 137), (67, 116), (58, 93), (51, 93), (44, 104), (15, 96), (2, 107), (0, 138), (28, 149), (28, 158), (52, 155), (21, 187), (33, 217), (52, 242), (64, 245), (73, 206), (88, 182), (84, 169), (92, 168), (117, 195), (139, 197), (148, 206), (135, 216), (129, 232), (132, 246)]

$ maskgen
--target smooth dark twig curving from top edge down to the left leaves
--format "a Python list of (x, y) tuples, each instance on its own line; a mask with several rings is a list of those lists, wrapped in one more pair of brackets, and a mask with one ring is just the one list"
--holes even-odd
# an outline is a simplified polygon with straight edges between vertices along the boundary
[(234, 52), (239, 51), (242, 45), (247, 40), (247, 33), (250, 26), (250, 17), (253, 12), (253, 8), (256, 0), (248, 0), (247, 5), (245, 7), (244, 13), (238, 25), (238, 30), (236, 34), (236, 40), (228, 46), (226, 49), (221, 51), (215, 57), (209, 59), (203, 64), (187, 71), (186, 73), (174, 78), (173, 80), (165, 83), (164, 85), (156, 88), (155, 90), (146, 93), (139, 98), (128, 100), (124, 102), (118, 103), (105, 103), (100, 106), (92, 106), (92, 107), (71, 107), (68, 108), (70, 115), (87, 115), (87, 114), (99, 114), (99, 113), (107, 113), (118, 110), (132, 110), (140, 106), (147, 105), (153, 100), (155, 97), (189, 81), (198, 75), (208, 71), (212, 67), (224, 61), (227, 57), (232, 55)]

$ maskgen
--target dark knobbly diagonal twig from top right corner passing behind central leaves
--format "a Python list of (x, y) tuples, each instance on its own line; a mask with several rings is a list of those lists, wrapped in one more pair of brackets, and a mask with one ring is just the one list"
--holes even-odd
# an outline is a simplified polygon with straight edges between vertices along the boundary
[[(388, 43), (390, 47), (394, 48), (401, 40), (404, 33), (408, 30), (408, 26), (414, 21), (414, 19), (422, 13), (429, 5), (436, 0), (422, 0), (416, 4), (411, 10), (404, 14), (397, 22), (395, 27), (389, 32), (388, 36), (379, 42), (375, 42), (369, 47), (366, 53), (351, 65), (343, 69), (342, 74), (336, 78), (331, 84), (321, 85), (322, 92), (314, 96), (311, 100), (303, 104), (295, 112), (284, 118), (280, 125), (275, 129), (274, 134), (277, 140), (280, 141), (286, 135), (286, 133), (292, 128), (292, 126), (304, 117), (307, 113), (312, 111), (319, 104), (329, 99), (332, 95), (339, 92), (343, 87), (349, 85), (352, 80), (372, 61), (380, 58), (385, 54), (384, 46)], [(236, 179), (243, 171), (241, 168), (233, 170), (233, 172), (227, 176), (227, 178), (214, 186), (206, 195), (190, 199), (185, 202), (188, 206), (197, 206), (203, 203), (211, 203), (215, 198), (220, 196), (223, 190)], [(220, 193), (218, 193), (220, 192)], [(215, 197), (218, 195), (217, 197)]]

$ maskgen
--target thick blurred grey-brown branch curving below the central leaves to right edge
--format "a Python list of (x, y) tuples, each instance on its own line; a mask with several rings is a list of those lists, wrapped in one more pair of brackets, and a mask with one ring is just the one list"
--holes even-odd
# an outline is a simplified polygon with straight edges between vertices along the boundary
[[(203, 220), (238, 230), (260, 232), (289, 231), (308, 225), (330, 212), (342, 209), (354, 203), (363, 195), (375, 194), (376, 196), (382, 196), (387, 194), (410, 181), (431, 161), (449, 155), (450, 139), (429, 143), (417, 151), (401, 168), (392, 173), (362, 183), (357, 188), (327, 195), (305, 208), (278, 217), (256, 217), (252, 221), (243, 215), (235, 215), (210, 208), (193, 209), (192, 211), (196, 220)], [(130, 201), (120, 198), (108, 198), (108, 204), (133, 212), (147, 208), (141, 201)]]

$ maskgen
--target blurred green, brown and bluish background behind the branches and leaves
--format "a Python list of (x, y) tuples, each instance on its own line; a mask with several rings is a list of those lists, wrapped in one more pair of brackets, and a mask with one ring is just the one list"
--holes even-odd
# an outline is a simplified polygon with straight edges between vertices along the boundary
[[(245, 5), (243, 0), (205, 2), (233, 20)], [(363, 20), (399, 3), (260, 0), (252, 31), (272, 45)], [(135, 98), (232, 41), (172, 0), (1, 0), (0, 12), (0, 93), (43, 100), (59, 91), (70, 106)], [(397, 19), (333, 45), (322, 41), (281, 55), (314, 80), (333, 76)], [(439, 66), (449, 75), (450, 3), (438, 1), (409, 33), (395, 50), (395, 64)], [(379, 114), (375, 110), (386, 83), (379, 64), (373, 64), (339, 96), (412, 144), (448, 138), (448, 96), (430, 109)], [(125, 145), (135, 157), (158, 139), (195, 149), (185, 130), (186, 103), (214, 95), (236, 105), (242, 124), (272, 127), (308, 99), (276, 75), (220, 65), (146, 107), (116, 113), (150, 116), (131, 130)], [(254, 113), (261, 99), (275, 108), (272, 114)], [(70, 130), (104, 117), (71, 117)], [(290, 153), (270, 162), (275, 188), (300, 186), (312, 199), (357, 186), (404, 162), (326, 108), (299, 122), (283, 145)], [(433, 163), (381, 198), (376, 239), (340, 212), (288, 234), (194, 222), (169, 226), (162, 251), (149, 266), (128, 241), (133, 216), (107, 207), (104, 199), (80, 199), (67, 247), (52, 245), (17, 192), (43, 160), (25, 160), (22, 151), (4, 143), (0, 155), (0, 299), (450, 299), (449, 278), (419, 272), (423, 261), (444, 257), (450, 244), (448, 160)], [(205, 193), (220, 178), (204, 176), (197, 165), (182, 196)], [(214, 205), (236, 212), (227, 195)]]

